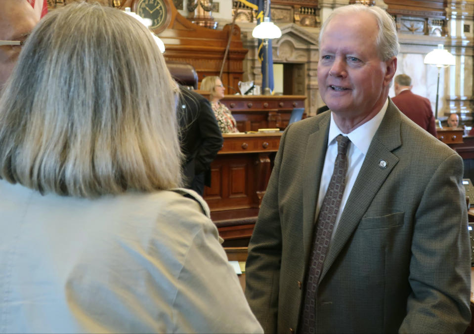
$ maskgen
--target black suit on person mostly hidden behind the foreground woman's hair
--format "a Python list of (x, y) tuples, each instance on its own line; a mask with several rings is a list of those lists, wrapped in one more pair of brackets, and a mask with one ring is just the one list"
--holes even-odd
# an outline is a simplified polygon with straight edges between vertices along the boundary
[(178, 120), (181, 151), (184, 154), (182, 170), (185, 188), (192, 189), (195, 175), (205, 174), (205, 185), (211, 185), (211, 163), (222, 148), (222, 134), (209, 101), (202, 95), (180, 86)]

